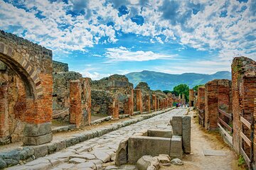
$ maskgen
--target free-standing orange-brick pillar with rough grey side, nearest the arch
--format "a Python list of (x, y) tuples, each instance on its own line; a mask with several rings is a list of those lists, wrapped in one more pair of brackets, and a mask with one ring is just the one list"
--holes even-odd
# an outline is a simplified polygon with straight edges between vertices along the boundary
[(90, 125), (91, 119), (90, 79), (70, 81), (70, 123), (77, 128)]

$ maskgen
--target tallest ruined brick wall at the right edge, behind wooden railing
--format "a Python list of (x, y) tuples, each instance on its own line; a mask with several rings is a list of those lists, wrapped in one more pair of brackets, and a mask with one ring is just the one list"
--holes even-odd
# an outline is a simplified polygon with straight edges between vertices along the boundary
[[(232, 94), (233, 94), (233, 147), (240, 153), (240, 147), (245, 146), (245, 152), (249, 149), (242, 142), (240, 131), (250, 139), (250, 130), (240, 123), (240, 115), (252, 123), (252, 113), (255, 109), (256, 97), (256, 62), (247, 57), (235, 57), (232, 68)], [(255, 138), (254, 138), (255, 140)], [(242, 145), (240, 145), (242, 144)], [(254, 146), (255, 147), (255, 146)]]

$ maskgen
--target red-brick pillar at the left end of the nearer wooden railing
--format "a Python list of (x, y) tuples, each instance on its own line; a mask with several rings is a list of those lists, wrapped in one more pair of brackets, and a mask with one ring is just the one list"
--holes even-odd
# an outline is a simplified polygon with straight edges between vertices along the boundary
[(206, 114), (205, 127), (207, 130), (218, 128), (218, 80), (209, 81), (206, 84)]

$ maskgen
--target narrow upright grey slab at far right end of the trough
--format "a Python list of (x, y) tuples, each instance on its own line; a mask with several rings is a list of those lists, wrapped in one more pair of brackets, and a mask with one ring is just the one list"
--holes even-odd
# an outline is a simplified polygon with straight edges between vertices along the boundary
[(191, 117), (182, 117), (182, 146), (183, 152), (191, 152)]

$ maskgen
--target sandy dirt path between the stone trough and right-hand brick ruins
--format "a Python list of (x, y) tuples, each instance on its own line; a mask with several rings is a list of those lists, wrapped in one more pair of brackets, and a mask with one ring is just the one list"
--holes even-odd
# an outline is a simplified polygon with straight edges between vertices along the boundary
[[(190, 111), (192, 115), (191, 123), (191, 154), (183, 156), (183, 166), (161, 166), (161, 170), (243, 170), (244, 167), (238, 166), (238, 155), (223, 142), (218, 132), (207, 132), (198, 125), (198, 117), (195, 111)], [(204, 156), (203, 149), (223, 150), (226, 156)]]

